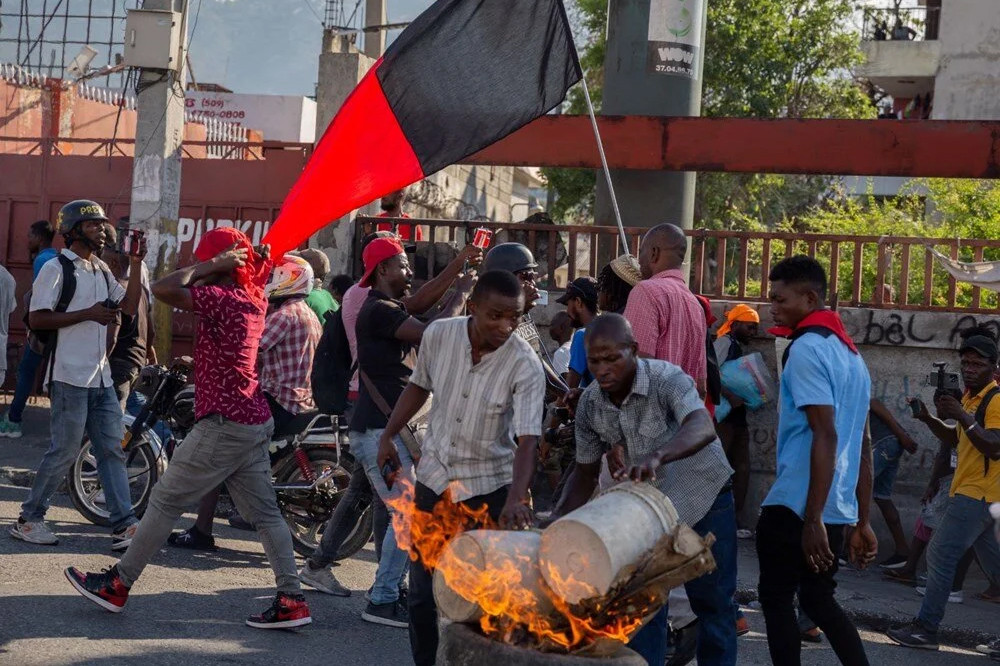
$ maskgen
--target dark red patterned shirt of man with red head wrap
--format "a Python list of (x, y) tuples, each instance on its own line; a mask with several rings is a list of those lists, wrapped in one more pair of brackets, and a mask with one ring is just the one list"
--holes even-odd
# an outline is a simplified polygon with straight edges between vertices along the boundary
[(271, 409), (257, 378), (266, 304), (236, 285), (191, 287), (198, 315), (194, 414), (219, 414), (244, 425), (266, 423)]

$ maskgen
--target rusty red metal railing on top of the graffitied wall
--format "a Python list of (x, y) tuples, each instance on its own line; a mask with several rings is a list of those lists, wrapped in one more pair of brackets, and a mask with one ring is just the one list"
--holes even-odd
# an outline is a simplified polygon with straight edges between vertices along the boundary
[[(492, 229), (494, 244), (513, 240), (532, 250), (541, 281), (549, 289), (562, 288), (580, 275), (596, 276), (610, 258), (621, 253), (616, 227), (359, 217), (358, 238), (376, 223), (419, 225), (428, 232), (425, 238), (456, 245), (471, 242), (477, 227)], [(633, 255), (638, 254), (646, 231), (625, 229)], [(689, 231), (688, 238), (691, 289), (711, 298), (766, 302), (767, 275), (774, 264), (793, 254), (806, 254), (826, 269), (830, 301), (838, 305), (970, 313), (1000, 308), (995, 292), (956, 282), (936, 265), (929, 249), (963, 261), (1000, 261), (1000, 240), (705, 229)], [(421, 251), (418, 248), (418, 263)], [(442, 261), (427, 260), (426, 265), (427, 276), (432, 277)]]

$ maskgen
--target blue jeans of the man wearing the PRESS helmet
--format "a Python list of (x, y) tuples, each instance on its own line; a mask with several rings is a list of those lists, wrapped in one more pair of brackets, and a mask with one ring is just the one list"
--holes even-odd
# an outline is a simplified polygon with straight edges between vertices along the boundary
[(28, 499), (21, 505), (21, 517), (28, 522), (44, 520), (49, 500), (80, 452), (86, 433), (97, 459), (97, 477), (111, 514), (112, 529), (120, 532), (136, 522), (136, 517), (121, 447), (125, 427), (114, 389), (52, 382), (51, 403), (52, 443), (38, 466)]

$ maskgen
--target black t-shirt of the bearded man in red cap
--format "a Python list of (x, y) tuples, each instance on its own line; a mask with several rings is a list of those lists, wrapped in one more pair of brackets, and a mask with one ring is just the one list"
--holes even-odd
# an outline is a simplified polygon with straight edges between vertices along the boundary
[[(372, 289), (361, 306), (355, 325), (358, 368), (368, 375), (390, 409), (410, 381), (417, 361), (416, 346), (396, 338), (396, 331), (409, 318), (401, 301)], [(358, 382), (358, 389), (351, 430), (384, 428), (388, 419), (372, 400), (363, 380)]]

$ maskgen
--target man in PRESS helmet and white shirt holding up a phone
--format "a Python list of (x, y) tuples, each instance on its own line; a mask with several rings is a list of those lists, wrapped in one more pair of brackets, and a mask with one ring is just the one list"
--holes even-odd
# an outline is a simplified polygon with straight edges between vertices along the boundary
[(135, 534), (129, 493), (124, 426), (109, 361), (107, 329), (124, 313), (135, 316), (145, 248), (129, 257), (131, 275), (122, 287), (99, 258), (107, 242), (104, 209), (93, 201), (71, 201), (59, 211), (59, 232), (66, 249), (46, 263), (32, 285), (28, 323), (47, 334), (43, 359), (52, 401), (52, 443), (38, 467), (21, 516), (11, 527), (16, 539), (55, 545), (45, 524), (49, 500), (62, 483), (84, 434), (97, 458), (97, 475), (111, 514), (111, 549), (128, 548)]

